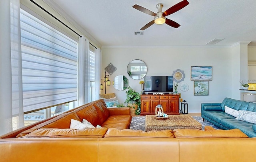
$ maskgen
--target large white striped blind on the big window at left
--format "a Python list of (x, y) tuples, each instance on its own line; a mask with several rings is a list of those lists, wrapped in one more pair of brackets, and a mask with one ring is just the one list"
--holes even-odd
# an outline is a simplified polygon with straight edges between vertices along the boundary
[(77, 100), (77, 42), (20, 10), (24, 112)]

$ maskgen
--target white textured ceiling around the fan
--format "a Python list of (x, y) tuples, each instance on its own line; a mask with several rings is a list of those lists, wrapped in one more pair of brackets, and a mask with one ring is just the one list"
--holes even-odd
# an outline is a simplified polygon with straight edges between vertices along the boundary
[(181, 0), (44, 1), (104, 47), (206, 46), (215, 38), (225, 39), (211, 46), (242, 41), (256, 45), (256, 0), (188, 0), (188, 6), (166, 16), (180, 27), (153, 24), (144, 35), (134, 35), (134, 31), (140, 31), (154, 17), (132, 8), (134, 4), (156, 13), (156, 4), (164, 4), (165, 11)]

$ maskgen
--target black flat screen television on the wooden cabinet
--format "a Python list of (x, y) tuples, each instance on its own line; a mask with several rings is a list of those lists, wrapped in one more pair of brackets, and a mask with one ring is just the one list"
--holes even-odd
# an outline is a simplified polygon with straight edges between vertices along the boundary
[(145, 92), (173, 92), (172, 76), (145, 76)]

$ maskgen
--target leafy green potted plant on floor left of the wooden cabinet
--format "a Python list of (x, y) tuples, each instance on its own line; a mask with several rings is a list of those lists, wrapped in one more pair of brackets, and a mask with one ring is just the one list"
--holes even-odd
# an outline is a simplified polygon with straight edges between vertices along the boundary
[(130, 86), (126, 91), (126, 100), (124, 103), (128, 103), (130, 107), (131, 115), (140, 115), (140, 94), (133, 90)]

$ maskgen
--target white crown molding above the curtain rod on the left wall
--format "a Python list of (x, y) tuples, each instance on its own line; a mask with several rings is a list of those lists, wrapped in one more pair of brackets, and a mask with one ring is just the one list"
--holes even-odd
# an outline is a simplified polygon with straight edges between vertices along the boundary
[(72, 19), (58, 4), (53, 2), (52, 0), (43, 0), (48, 6), (50, 6), (53, 10), (55, 10), (58, 14), (60, 14), (64, 19), (66, 19), (69, 23), (71, 23), (74, 27), (76, 27), (80, 32), (84, 33), (86, 37), (88, 37), (90, 40), (92, 40), (96, 46), (102, 47), (102, 45), (92, 36), (90, 33), (88, 33), (83, 27), (79, 25), (74, 19)]

